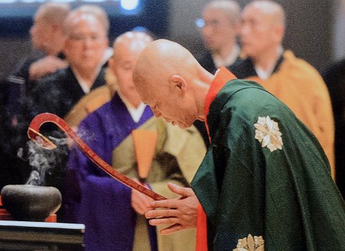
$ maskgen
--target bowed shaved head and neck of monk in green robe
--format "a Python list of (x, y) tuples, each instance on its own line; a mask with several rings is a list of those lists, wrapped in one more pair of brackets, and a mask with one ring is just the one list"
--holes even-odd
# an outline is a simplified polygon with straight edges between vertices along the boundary
[(204, 97), (212, 78), (186, 48), (166, 39), (150, 43), (133, 71), (141, 100), (157, 117), (181, 128), (204, 119)]

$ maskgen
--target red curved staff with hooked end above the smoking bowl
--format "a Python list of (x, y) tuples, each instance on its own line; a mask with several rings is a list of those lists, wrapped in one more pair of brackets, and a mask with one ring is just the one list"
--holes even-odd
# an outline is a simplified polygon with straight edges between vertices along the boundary
[(59, 116), (52, 114), (52, 113), (41, 113), (33, 118), (33, 120), (30, 122), (29, 128), (28, 128), (28, 136), (30, 140), (33, 140), (37, 142), (41, 147), (44, 147), (46, 149), (54, 149), (56, 145), (48, 140), (45, 136), (43, 136), (41, 133), (39, 133), (39, 128), (42, 124), (46, 122), (52, 122), (56, 124), (62, 131), (64, 131), (68, 137), (72, 138), (72, 140), (77, 144), (77, 146), (83, 151), (88, 158), (90, 158), (97, 166), (99, 166), (103, 171), (105, 171), (107, 174), (112, 176), (112, 178), (115, 178), (116, 180), (119, 180), (119, 182), (123, 183), (124, 185), (132, 188), (137, 189), (139, 192), (146, 194), (150, 198), (153, 198), (156, 201), (165, 200), (163, 196), (156, 194), (155, 192), (151, 191), (150, 189), (147, 189), (146, 187), (139, 185), (134, 180), (131, 180), (127, 176), (124, 176), (124, 174), (121, 174), (119, 171), (112, 168), (110, 165), (108, 165), (107, 162), (102, 160), (94, 151), (86, 145), (79, 136), (77, 136), (77, 133), (75, 133), (70, 126), (65, 122), (65, 120), (61, 119)]

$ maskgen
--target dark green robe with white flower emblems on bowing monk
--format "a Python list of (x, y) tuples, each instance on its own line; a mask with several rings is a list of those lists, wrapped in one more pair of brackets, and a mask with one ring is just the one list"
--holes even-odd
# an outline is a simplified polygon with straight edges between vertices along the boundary
[[(345, 250), (345, 203), (328, 160), (286, 105), (255, 82), (231, 80), (207, 125), (212, 142), (192, 188), (207, 215), (209, 250)], [(249, 244), (248, 234), (264, 245), (257, 237)]]

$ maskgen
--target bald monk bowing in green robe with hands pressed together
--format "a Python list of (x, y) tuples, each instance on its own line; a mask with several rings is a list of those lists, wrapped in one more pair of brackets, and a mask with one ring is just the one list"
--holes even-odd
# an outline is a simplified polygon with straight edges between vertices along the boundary
[(181, 128), (203, 120), (211, 140), (191, 188), (169, 184), (181, 198), (146, 212), (151, 225), (170, 225), (161, 234), (197, 227), (198, 251), (345, 250), (329, 162), (285, 104), (226, 68), (208, 73), (164, 39), (141, 52), (133, 78), (157, 117)]

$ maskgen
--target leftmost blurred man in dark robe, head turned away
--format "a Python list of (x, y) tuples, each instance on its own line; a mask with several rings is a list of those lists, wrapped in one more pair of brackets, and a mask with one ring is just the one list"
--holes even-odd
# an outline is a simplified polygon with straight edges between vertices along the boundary
[(21, 59), (7, 77), (6, 113), (13, 127), (17, 125), (23, 99), (37, 81), (68, 65), (62, 53), (65, 41), (62, 26), (69, 12), (68, 3), (48, 2), (41, 4), (34, 15), (30, 37), (36, 51)]

